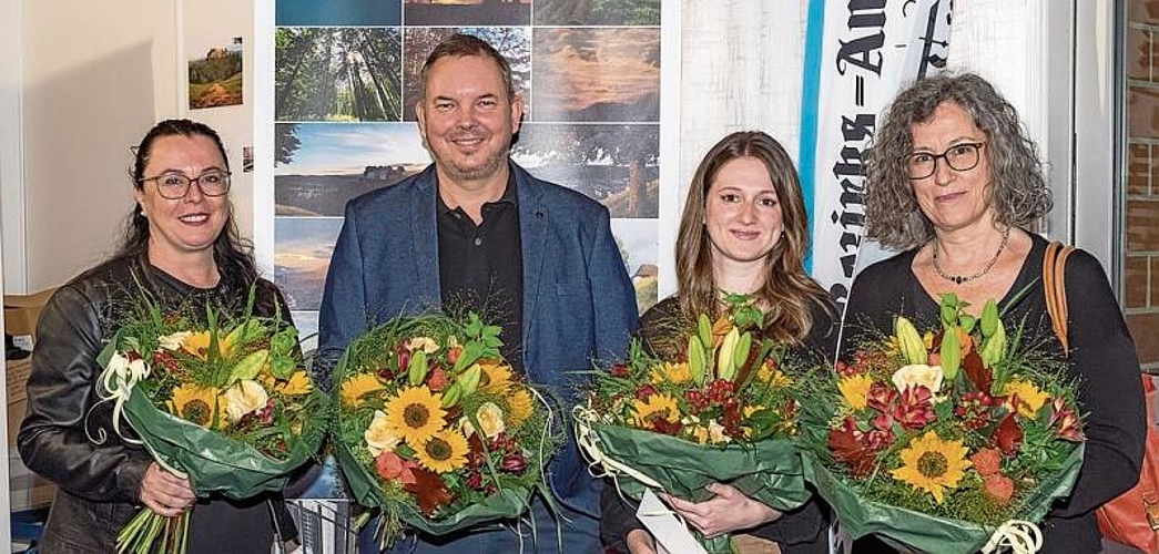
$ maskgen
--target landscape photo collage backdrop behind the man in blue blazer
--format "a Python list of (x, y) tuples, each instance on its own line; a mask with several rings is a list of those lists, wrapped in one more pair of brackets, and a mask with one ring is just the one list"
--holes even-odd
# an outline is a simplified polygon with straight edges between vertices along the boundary
[(661, 0), (277, 0), (275, 282), (305, 334), (348, 201), (431, 163), (418, 72), (453, 32), (523, 92), (512, 158), (607, 206), (641, 313), (656, 302)]

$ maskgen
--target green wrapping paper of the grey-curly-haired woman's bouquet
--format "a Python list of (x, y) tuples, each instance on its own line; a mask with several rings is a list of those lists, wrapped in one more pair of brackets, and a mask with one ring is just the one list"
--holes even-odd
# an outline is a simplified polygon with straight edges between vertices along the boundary
[[(1019, 518), (1041, 522), (1056, 498), (1070, 494), (1083, 467), (1083, 444), (1076, 444), (1060, 471), (1044, 480), (1023, 500)], [(850, 483), (829, 471), (812, 454), (806, 454), (806, 479), (837, 512), (841, 529), (851, 538), (876, 534), (891, 546), (938, 554), (972, 554), (983, 549), (998, 527), (961, 519), (930, 516), (863, 498)], [(888, 478), (883, 478), (888, 479)]]

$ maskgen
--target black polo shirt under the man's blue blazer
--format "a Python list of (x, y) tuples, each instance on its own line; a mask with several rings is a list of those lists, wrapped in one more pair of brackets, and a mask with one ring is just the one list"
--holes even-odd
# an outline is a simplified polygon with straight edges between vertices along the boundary
[(523, 252), (515, 176), (480, 225), (438, 196), (438, 276), (443, 305), (473, 309), (503, 328), (503, 357), (523, 370)]

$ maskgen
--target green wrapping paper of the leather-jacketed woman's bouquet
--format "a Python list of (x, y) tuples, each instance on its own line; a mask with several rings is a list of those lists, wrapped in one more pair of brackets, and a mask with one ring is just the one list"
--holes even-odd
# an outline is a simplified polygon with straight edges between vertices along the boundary
[[(107, 366), (118, 341), (110, 342), (97, 363)], [(184, 472), (198, 496), (219, 493), (234, 500), (282, 490), (290, 473), (306, 462), (321, 446), (323, 432), (304, 430), (283, 460), (270, 458), (253, 446), (227, 438), (158, 409), (134, 389), (124, 404), (124, 415), (150, 452), (162, 464)], [(325, 417), (307, 420), (322, 425)], [(312, 423), (311, 423), (312, 422)]]

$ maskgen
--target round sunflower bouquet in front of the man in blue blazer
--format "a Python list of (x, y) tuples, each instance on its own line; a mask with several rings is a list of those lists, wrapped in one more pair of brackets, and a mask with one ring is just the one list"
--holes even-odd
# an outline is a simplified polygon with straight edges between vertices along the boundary
[(336, 369), (336, 454), (355, 498), (445, 534), (518, 518), (561, 444), (546, 402), (474, 313), (400, 316), (351, 341)]

